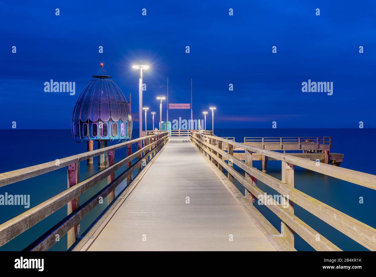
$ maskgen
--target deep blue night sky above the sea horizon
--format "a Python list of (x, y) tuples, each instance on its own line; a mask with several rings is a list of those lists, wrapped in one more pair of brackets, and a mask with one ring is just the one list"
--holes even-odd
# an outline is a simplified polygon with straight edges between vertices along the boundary
[[(2, 129), (69, 129), (100, 62), (138, 112), (135, 60), (152, 65), (143, 102), (157, 118), (166, 77), (169, 102), (189, 103), (193, 76), (193, 117), (214, 105), (217, 128), (376, 127), (376, 2), (21, 2), (0, 3)], [(45, 93), (50, 79), (76, 82), (76, 94)], [(303, 93), (308, 79), (333, 82), (333, 95)], [(170, 110), (179, 116), (190, 111)]]

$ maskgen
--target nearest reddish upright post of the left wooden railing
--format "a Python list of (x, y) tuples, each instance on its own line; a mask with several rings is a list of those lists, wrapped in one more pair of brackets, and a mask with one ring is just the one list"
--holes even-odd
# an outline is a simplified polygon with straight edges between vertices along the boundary
[[(68, 166), (68, 189), (71, 186), (74, 186), (75, 184), (79, 183), (80, 181), (80, 163), (73, 163)], [(77, 210), (80, 207), (80, 196), (77, 196), (72, 201), (68, 203), (68, 215), (72, 213), (73, 211)], [(71, 228), (67, 232), (67, 249), (69, 249), (74, 242), (76, 241), (77, 237), (79, 236), (79, 224), (74, 225), (73, 228)]]

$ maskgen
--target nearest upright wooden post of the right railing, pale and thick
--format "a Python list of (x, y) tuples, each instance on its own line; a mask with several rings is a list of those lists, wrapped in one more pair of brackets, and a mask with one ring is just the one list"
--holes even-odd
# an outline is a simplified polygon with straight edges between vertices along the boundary
[[(286, 186), (293, 188), (294, 187), (294, 165), (290, 163), (286, 163), (282, 161), (282, 183), (285, 183)], [(285, 209), (291, 215), (294, 215), (294, 202), (290, 201), (289, 195), (283, 195), (284, 199), (288, 201), (288, 208)], [(280, 203), (280, 204), (287, 204)], [(294, 230), (288, 227), (285, 222), (282, 221), (282, 225), (284, 225), (284, 236), (288, 242), (294, 247)]]

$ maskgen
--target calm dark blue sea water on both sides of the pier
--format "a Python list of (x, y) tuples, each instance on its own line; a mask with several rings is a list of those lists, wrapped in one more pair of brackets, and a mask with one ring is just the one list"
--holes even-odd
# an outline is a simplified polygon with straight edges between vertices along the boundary
[[(138, 129), (133, 130), (138, 134)], [(376, 129), (216, 129), (218, 136), (235, 137), (237, 142), (243, 142), (245, 136), (249, 137), (278, 137), (278, 136), (331, 136), (331, 152), (343, 153), (344, 160), (341, 167), (359, 170), (376, 175), (375, 161), (376, 149), (368, 149), (376, 137)], [(67, 157), (86, 151), (85, 143), (76, 143), (71, 139), (70, 130), (0, 130), (0, 135), (6, 137), (3, 143), (0, 172), (45, 163), (58, 158)], [(96, 145), (94, 145), (96, 149)], [(134, 151), (134, 149), (133, 149)], [(115, 161), (124, 158), (126, 149), (119, 149), (115, 154)], [(253, 166), (261, 169), (261, 161), (253, 162)], [(118, 170), (116, 176), (123, 169)], [(237, 168), (241, 172), (241, 169)], [(86, 161), (80, 163), (80, 180), (98, 172), (97, 160), (88, 165)], [(280, 162), (268, 161), (268, 174), (280, 179)], [(353, 218), (376, 228), (376, 191), (361, 187), (346, 181), (326, 177), (300, 167), (295, 169), (295, 187), (302, 192), (346, 213)], [(103, 180), (80, 196), (80, 203), (84, 203), (100, 189), (107, 185)], [(258, 186), (268, 194), (277, 194), (276, 191), (258, 181)], [(124, 189), (121, 184), (116, 193)], [(237, 183), (237, 187), (244, 192), (244, 187)], [(49, 172), (38, 177), (24, 180), (5, 187), (0, 187), (0, 194), (26, 194), (30, 195), (30, 208), (47, 200), (48, 198), (67, 189), (67, 169)], [(364, 204), (359, 204), (359, 197), (364, 198)], [(107, 203), (107, 199), (103, 201)], [(257, 203), (257, 202), (256, 202)], [(255, 203), (255, 204), (256, 204)], [(257, 209), (280, 230), (280, 220), (265, 206), (255, 205)], [(89, 225), (106, 208), (106, 204), (97, 205), (81, 222), (83, 233)], [(23, 206), (0, 206), (0, 223), (24, 212)], [(366, 250), (352, 239), (335, 230), (314, 215), (295, 205), (295, 214), (317, 230), (321, 235), (331, 240), (342, 250)], [(67, 215), (65, 205), (43, 221), (39, 222), (20, 236), (0, 247), (0, 250), (23, 250), (49, 228), (61, 221)], [(51, 250), (66, 250), (67, 239), (62, 237)], [(297, 250), (313, 250), (304, 240), (296, 234), (295, 247)]]

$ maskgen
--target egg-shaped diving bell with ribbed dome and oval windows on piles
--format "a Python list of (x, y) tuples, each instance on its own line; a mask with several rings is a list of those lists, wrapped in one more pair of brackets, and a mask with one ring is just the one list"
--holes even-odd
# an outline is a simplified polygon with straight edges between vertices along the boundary
[[(94, 140), (98, 141), (98, 148), (103, 148), (109, 140), (126, 141), (132, 137), (130, 103), (103, 64), (92, 77), (95, 79), (86, 85), (74, 106), (71, 123), (73, 139), (86, 141), (88, 151), (93, 149)], [(92, 163), (92, 158), (88, 163)], [(106, 167), (106, 163), (106, 155), (99, 156), (99, 167)]]

